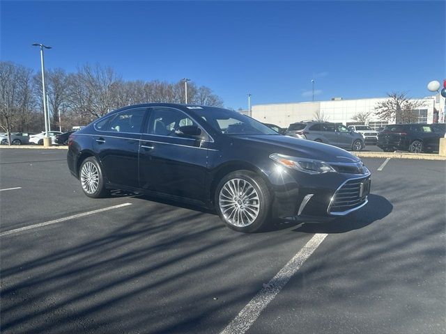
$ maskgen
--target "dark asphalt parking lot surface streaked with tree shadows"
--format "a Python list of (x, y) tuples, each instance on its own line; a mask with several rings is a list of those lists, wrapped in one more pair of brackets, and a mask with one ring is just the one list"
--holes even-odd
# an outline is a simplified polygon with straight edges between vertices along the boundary
[[(173, 202), (87, 198), (65, 150), (0, 161), (2, 333), (446, 331), (445, 161), (364, 158), (366, 207), (256, 234)], [(241, 312), (315, 236), (262, 312)]]

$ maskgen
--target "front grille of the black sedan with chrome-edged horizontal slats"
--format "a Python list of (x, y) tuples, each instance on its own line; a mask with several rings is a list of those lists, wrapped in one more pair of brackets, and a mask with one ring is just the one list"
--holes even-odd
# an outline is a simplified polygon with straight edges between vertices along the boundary
[(348, 180), (334, 193), (328, 207), (329, 214), (345, 214), (360, 207), (367, 201), (370, 191), (370, 178)]

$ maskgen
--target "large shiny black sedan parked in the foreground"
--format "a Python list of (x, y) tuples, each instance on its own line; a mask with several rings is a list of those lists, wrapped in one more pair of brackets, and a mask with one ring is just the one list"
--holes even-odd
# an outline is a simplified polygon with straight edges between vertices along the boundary
[(369, 170), (345, 150), (209, 106), (113, 111), (70, 135), (67, 160), (86, 196), (124, 189), (215, 208), (242, 232), (271, 217), (344, 216), (367, 203), (370, 189)]

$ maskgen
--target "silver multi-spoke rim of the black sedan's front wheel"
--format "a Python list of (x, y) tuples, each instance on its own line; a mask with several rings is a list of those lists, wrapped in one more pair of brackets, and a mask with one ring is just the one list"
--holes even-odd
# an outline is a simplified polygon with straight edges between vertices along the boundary
[(220, 211), (231, 225), (243, 228), (259, 216), (259, 194), (247, 180), (229, 180), (222, 186), (218, 197)]

